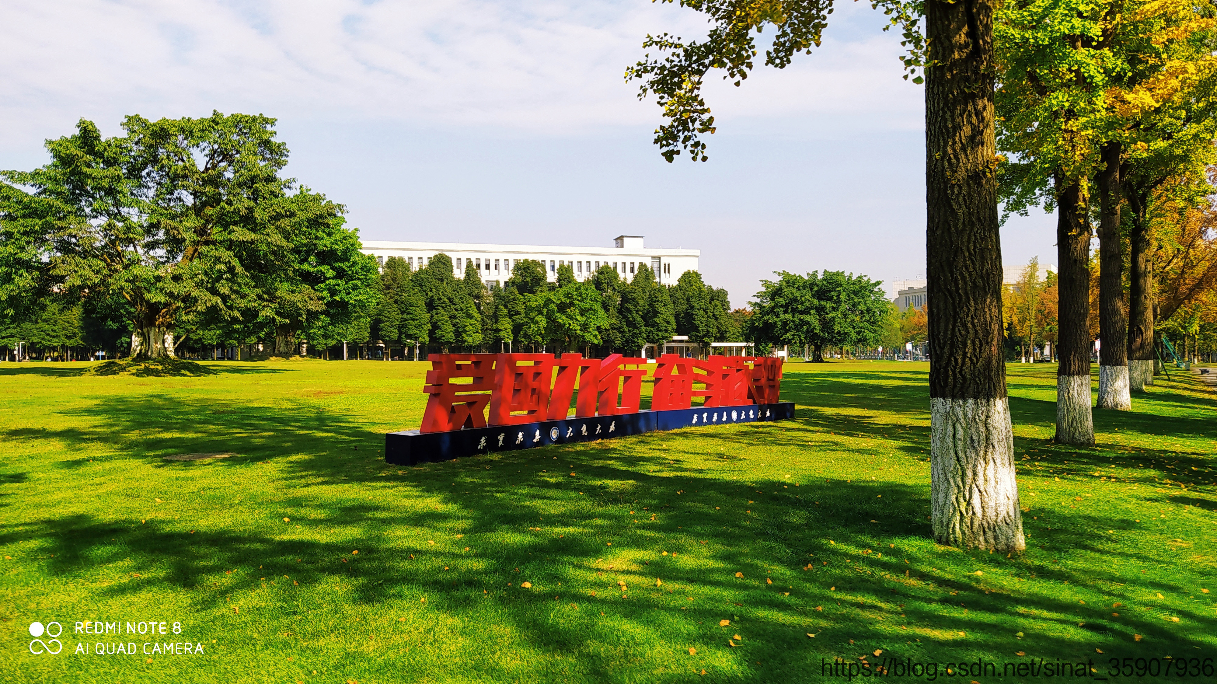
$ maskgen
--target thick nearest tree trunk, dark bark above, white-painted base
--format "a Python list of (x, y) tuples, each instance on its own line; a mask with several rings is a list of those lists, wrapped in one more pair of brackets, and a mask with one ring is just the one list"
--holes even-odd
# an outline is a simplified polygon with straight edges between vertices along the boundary
[(925, 16), (933, 537), (1021, 551), (1002, 331), (993, 1), (929, 0)]

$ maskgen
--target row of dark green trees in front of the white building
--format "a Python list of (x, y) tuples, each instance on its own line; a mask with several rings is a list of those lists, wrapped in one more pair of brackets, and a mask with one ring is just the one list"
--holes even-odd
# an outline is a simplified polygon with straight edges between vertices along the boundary
[(605, 265), (583, 281), (561, 265), (549, 282), (544, 264), (522, 259), (501, 287), (487, 287), (472, 264), (458, 280), (447, 254), (417, 271), (389, 257), (380, 295), (368, 336), (391, 346), (638, 353), (673, 335), (706, 346), (738, 341), (742, 333), (741, 313), (730, 310), (725, 290), (706, 285), (696, 271), (667, 287), (645, 265), (633, 280)]

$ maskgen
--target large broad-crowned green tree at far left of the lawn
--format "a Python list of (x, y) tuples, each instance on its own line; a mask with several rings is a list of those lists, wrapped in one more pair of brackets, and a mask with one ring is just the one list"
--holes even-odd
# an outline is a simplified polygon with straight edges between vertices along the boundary
[(268, 301), (257, 257), (288, 247), (287, 147), (274, 123), (129, 116), (127, 134), (107, 139), (82, 119), (75, 134), (47, 141), (47, 166), (0, 174), (11, 184), (0, 197), (5, 229), (17, 219), (13, 245), (47, 254), (41, 285), (122, 296), (134, 353), (173, 355), (183, 315), (240, 319)]

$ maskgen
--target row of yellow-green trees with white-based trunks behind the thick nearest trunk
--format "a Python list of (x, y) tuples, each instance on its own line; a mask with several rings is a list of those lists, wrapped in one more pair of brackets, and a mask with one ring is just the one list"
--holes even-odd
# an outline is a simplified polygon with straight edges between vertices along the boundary
[(1099, 407), (1127, 410), (1129, 391), (1152, 382), (1155, 319), (1173, 315), (1155, 313), (1154, 267), (1180, 212), (1202, 211), (1213, 191), (1213, 15), (1204, 2), (1079, 0), (998, 12), (1000, 191), (1008, 211), (1058, 214), (1059, 442), (1094, 443), (1092, 319), (1104, 342)]

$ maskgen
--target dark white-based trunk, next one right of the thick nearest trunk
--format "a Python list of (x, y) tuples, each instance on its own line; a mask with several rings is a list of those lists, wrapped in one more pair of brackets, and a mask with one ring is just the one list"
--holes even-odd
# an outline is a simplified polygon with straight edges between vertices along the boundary
[(1059, 444), (1094, 445), (1090, 415), (1090, 224), (1081, 184), (1056, 178)]

